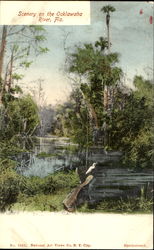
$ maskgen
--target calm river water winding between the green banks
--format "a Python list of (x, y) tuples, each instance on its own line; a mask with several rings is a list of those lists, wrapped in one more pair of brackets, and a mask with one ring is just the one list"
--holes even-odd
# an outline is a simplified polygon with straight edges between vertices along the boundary
[(56, 136), (36, 137), (29, 145), (29, 152), (16, 156), (19, 174), (43, 178), (60, 170), (68, 172), (78, 167), (83, 182), (86, 170), (97, 162), (94, 181), (90, 184), (93, 199), (127, 196), (128, 193), (138, 195), (143, 187), (152, 195), (153, 170), (124, 168), (119, 162), (121, 152), (106, 152), (98, 147), (91, 147), (87, 152), (70, 139)]

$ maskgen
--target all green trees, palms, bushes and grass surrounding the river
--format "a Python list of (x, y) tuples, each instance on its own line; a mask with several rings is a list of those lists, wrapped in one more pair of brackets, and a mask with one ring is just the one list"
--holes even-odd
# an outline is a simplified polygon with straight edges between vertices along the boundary
[[(107, 13), (114, 8), (102, 9)], [(152, 166), (153, 84), (134, 76), (134, 89), (126, 86), (118, 66), (120, 55), (111, 53), (110, 41), (100, 37), (95, 43), (76, 46), (67, 55), (67, 74), (73, 82), (68, 100), (55, 109), (39, 106), (20, 87), (19, 69), (30, 67), (32, 57), (48, 51), (42, 26), (4, 26), (0, 58), (0, 211), (6, 209), (61, 210), (66, 194), (79, 183), (74, 171), (45, 178), (23, 177), (15, 170), (12, 156), (26, 150), (21, 141), (33, 135), (54, 133), (70, 137), (80, 147), (99, 146), (124, 153), (123, 166)], [(20, 43), (24, 35), (29, 39)], [(109, 35), (109, 34), (108, 34)], [(11, 38), (10, 38), (11, 37)], [(15, 39), (14, 39), (15, 38)], [(9, 44), (11, 39), (11, 46)], [(33, 49), (35, 48), (35, 50)], [(31, 53), (30, 53), (31, 52)], [(40, 91), (41, 85), (40, 85)], [(41, 92), (39, 93), (41, 96)], [(23, 140), (24, 141), (24, 140)], [(46, 157), (44, 152), (40, 154)], [(121, 202), (121, 203), (120, 203)], [(14, 205), (12, 205), (14, 204)], [(146, 204), (146, 205), (145, 205)], [(135, 201), (104, 201), (97, 211), (151, 211), (151, 201), (141, 196)], [(87, 204), (79, 211), (92, 211)]]

